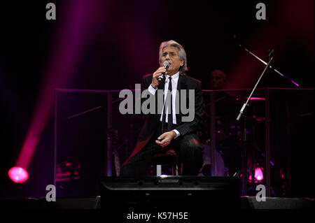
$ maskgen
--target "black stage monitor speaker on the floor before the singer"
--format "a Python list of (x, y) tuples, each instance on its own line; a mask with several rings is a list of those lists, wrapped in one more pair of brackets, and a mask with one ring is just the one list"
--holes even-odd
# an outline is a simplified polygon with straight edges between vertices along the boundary
[[(101, 209), (120, 220), (150, 213), (152, 217), (178, 220), (183, 213), (201, 216), (214, 209), (240, 209), (239, 179), (200, 176), (148, 176), (102, 178)], [(163, 215), (161, 213), (175, 213)], [(177, 214), (176, 214), (177, 213)], [(170, 218), (169, 218), (170, 217)], [(137, 218), (134, 218), (137, 219)], [(118, 219), (117, 219), (118, 220)]]

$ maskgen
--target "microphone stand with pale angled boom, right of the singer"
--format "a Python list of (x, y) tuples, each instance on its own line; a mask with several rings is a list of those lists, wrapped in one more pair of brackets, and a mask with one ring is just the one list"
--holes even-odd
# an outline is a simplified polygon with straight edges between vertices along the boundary
[[(257, 88), (257, 85), (260, 82), (260, 79), (264, 75), (264, 73), (267, 70), (267, 68), (270, 66), (269, 64), (272, 62), (273, 53), (274, 53), (274, 50), (269, 50), (269, 52), (268, 52), (269, 62), (267, 64), (267, 66), (265, 66), (264, 71), (262, 71), (262, 74), (260, 75), (258, 81), (256, 82), (255, 87), (253, 87), (253, 90), (251, 91), (251, 94), (248, 96), (247, 101), (241, 107), (241, 110), (239, 111), (239, 115), (237, 116), (237, 121), (238, 122), (241, 119), (241, 115), (243, 115), (246, 106), (248, 106), (248, 101), (251, 100), (251, 96), (253, 95), (253, 92), (255, 92), (255, 89)], [(244, 143), (244, 154), (243, 154), (243, 159), (244, 159), (243, 160), (243, 163), (244, 163), (244, 195), (246, 196), (247, 195), (247, 154), (246, 154), (246, 143), (247, 143), (247, 136), (246, 136), (246, 134), (247, 134), (247, 129), (246, 129), (246, 115), (244, 115), (243, 121), (244, 121), (244, 133), (243, 133), (243, 143)], [(253, 180), (253, 177), (252, 177), (252, 180)]]

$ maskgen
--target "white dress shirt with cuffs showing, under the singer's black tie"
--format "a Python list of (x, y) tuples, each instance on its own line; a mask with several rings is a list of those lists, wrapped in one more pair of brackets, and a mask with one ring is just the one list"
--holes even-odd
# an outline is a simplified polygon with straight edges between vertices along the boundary
[[(174, 94), (172, 94), (172, 111), (173, 111), (173, 124), (176, 124), (176, 104), (175, 104), (175, 100), (176, 100), (176, 94), (175, 91), (177, 90), (177, 83), (179, 82), (179, 72), (175, 73), (174, 75), (170, 76), (170, 75), (165, 75), (165, 86), (164, 86), (164, 104), (163, 104), (163, 109), (162, 109), (162, 114), (160, 116), (160, 121), (162, 122), (162, 115), (163, 115), (163, 111), (164, 111), (164, 106), (165, 106), (165, 101), (166, 101), (166, 97), (167, 97), (167, 90), (169, 89), (169, 77), (172, 78), (172, 92), (174, 92)], [(158, 88), (157, 88), (158, 89)], [(150, 85), (148, 87), (148, 91), (155, 95), (156, 90), (154, 87), (152, 87), (152, 85)], [(168, 114), (168, 107), (166, 110), (166, 113)], [(165, 122), (169, 122), (168, 120), (168, 115), (166, 115), (165, 117)], [(173, 129), (172, 131), (175, 131), (176, 136), (175, 138), (179, 137), (179, 131), (177, 131), (176, 129)]]

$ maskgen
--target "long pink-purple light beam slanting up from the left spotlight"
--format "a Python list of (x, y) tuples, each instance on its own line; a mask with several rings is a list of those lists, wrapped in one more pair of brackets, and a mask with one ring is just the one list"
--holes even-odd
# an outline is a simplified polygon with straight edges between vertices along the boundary
[(64, 87), (71, 81), (87, 40), (94, 34), (94, 30), (98, 30), (96, 25), (91, 26), (98, 24), (94, 17), (97, 15), (94, 12), (97, 5), (90, 1), (78, 0), (76, 3), (69, 3), (69, 8), (71, 10), (66, 11), (64, 15), (66, 22), (59, 26), (55, 40), (52, 41), (48, 68), (43, 72), (45, 78), (39, 90), (34, 115), (31, 117), (31, 124), (15, 166), (29, 168), (38, 141), (52, 115), (54, 89)]

